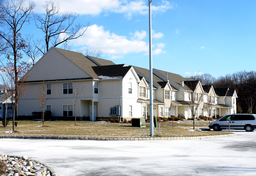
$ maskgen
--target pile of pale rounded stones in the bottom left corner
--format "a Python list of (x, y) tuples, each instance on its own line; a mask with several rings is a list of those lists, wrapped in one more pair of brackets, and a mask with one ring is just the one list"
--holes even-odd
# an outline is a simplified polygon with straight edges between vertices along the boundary
[(51, 167), (39, 161), (30, 160), (28, 156), (0, 154), (0, 160), (7, 165), (7, 176), (57, 176)]

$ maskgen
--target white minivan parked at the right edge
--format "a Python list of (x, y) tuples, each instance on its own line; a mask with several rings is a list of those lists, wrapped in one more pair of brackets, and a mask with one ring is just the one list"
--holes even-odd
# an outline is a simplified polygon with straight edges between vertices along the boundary
[[(230, 121), (229, 121), (230, 120)], [(211, 122), (209, 128), (214, 131), (229, 129), (244, 129), (245, 131), (254, 131), (256, 128), (256, 114), (230, 114), (219, 120)]]

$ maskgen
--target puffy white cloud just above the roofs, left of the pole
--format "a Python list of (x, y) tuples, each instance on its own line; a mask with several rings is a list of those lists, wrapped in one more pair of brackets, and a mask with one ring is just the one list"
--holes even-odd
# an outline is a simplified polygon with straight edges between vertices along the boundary
[[(110, 58), (122, 58), (123, 54), (128, 53), (148, 53), (148, 43), (143, 41), (147, 35), (145, 31), (136, 31), (132, 40), (126, 36), (119, 36), (115, 33), (106, 31), (103, 26), (96, 24), (88, 27), (83, 36), (77, 38), (75, 41), (71, 40), (69, 44), (74, 48), (79, 48), (83, 52), (85, 49), (90, 51), (102, 51), (104, 54), (109, 54)], [(166, 53), (163, 51), (165, 44), (158, 43), (153, 46), (153, 54)]]

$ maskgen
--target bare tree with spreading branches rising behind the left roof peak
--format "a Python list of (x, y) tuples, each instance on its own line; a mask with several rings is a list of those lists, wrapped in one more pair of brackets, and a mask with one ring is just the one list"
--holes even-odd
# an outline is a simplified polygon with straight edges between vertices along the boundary
[(43, 7), (45, 9), (43, 16), (34, 15), (37, 28), (45, 33), (45, 49), (38, 47), (43, 54), (49, 50), (50, 45), (54, 47), (63, 43), (67, 45), (69, 40), (82, 36), (89, 26), (89, 24), (85, 26), (74, 24), (77, 15), (68, 12), (60, 13), (59, 4), (54, 0), (46, 1)]

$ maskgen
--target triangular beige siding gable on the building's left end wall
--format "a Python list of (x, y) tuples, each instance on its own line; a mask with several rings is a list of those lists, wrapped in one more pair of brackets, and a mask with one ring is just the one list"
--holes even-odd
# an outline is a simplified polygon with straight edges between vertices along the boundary
[(91, 77), (55, 49), (46, 53), (32, 68), (27, 81)]

